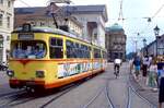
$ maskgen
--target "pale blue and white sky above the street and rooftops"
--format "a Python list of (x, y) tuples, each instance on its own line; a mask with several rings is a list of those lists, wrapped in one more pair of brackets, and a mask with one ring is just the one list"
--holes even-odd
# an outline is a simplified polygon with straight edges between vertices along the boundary
[[(15, 0), (14, 7), (45, 7), (49, 0)], [(127, 53), (143, 47), (155, 39), (153, 28), (160, 27), (160, 35), (164, 34), (164, 1), (163, 0), (122, 0), (122, 15), (119, 20), (121, 0), (71, 0), (71, 4), (106, 4), (108, 22), (106, 26), (118, 23), (127, 35)], [(160, 10), (161, 9), (161, 10)], [(160, 10), (160, 11), (159, 11)], [(148, 22), (147, 17), (152, 17)], [(134, 44), (137, 41), (137, 45)]]

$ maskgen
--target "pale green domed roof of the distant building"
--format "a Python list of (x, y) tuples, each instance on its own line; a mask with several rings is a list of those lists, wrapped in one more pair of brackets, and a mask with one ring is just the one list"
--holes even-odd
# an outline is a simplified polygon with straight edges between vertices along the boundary
[(118, 23), (115, 23), (110, 27), (106, 27), (106, 31), (107, 32), (122, 32), (124, 28)]

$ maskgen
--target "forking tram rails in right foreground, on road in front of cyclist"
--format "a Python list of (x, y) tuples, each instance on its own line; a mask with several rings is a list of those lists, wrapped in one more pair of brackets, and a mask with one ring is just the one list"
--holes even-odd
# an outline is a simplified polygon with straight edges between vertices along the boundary
[[(112, 80), (112, 79), (110, 79)], [(114, 80), (114, 79), (113, 79)], [(131, 85), (131, 83), (128, 83), (129, 79), (127, 80), (127, 104), (125, 108), (133, 108), (132, 105), (132, 100), (133, 99), (141, 99), (142, 103), (147, 104), (148, 106), (150, 106), (149, 108), (156, 108), (155, 105), (153, 105), (152, 103), (150, 103), (148, 99), (145, 99), (144, 97), (142, 97)], [(109, 80), (107, 80), (106, 85), (99, 89), (95, 96), (93, 96), (89, 103), (86, 105), (84, 105), (82, 108), (90, 108), (90, 106), (92, 104), (94, 104), (94, 101), (98, 98), (99, 95), (102, 95), (103, 92), (105, 92), (105, 96), (108, 103), (108, 107), (107, 108), (117, 108), (114, 104), (114, 101), (112, 100), (112, 96), (109, 96), (112, 93), (109, 93), (109, 86), (108, 86)], [(136, 98), (133, 98), (132, 96), (137, 96)]]

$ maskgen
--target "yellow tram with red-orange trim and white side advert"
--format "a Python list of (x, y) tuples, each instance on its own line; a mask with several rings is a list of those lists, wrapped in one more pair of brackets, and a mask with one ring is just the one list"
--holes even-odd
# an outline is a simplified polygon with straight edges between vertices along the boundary
[(105, 71), (106, 50), (61, 29), (24, 24), (11, 35), (12, 88), (54, 88)]

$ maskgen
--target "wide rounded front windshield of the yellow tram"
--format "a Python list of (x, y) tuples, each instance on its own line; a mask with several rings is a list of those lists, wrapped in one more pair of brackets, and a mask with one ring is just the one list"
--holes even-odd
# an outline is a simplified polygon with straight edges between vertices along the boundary
[(11, 41), (11, 57), (14, 59), (40, 59), (46, 56), (46, 44), (40, 40)]

